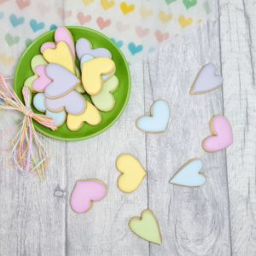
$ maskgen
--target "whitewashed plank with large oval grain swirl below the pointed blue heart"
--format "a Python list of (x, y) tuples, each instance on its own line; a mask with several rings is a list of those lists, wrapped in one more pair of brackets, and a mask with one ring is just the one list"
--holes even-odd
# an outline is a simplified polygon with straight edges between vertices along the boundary
[[(218, 4), (212, 2), (216, 15)], [(160, 222), (162, 246), (150, 255), (230, 255), (230, 223), (225, 152), (201, 148), (209, 120), (222, 113), (222, 91), (190, 96), (196, 73), (207, 62), (219, 73), (218, 22), (172, 41), (145, 62), (146, 110), (165, 99), (171, 124), (163, 134), (147, 136), (148, 207)], [(143, 111), (143, 109), (142, 109)], [(201, 158), (207, 183), (190, 189), (168, 183), (187, 160)]]

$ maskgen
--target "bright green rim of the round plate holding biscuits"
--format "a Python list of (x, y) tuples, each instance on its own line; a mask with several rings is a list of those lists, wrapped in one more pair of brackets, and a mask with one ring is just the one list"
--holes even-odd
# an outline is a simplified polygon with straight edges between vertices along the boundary
[[(61, 27), (61, 26), (58, 26), (58, 27)], [(120, 112), (114, 117), (114, 119), (108, 124), (106, 125), (101, 131), (96, 131), (95, 133), (93, 134), (90, 134), (90, 135), (86, 135), (86, 136), (83, 136), (83, 137), (58, 137), (56, 136), (55, 134), (46, 134), (45, 131), (43, 129), (41, 129), (41, 125), (38, 124), (34, 119), (32, 119), (32, 125), (33, 127), (40, 132), (40, 135), (43, 135), (44, 137), (51, 137), (51, 138), (55, 138), (56, 140), (59, 140), (59, 141), (82, 141), (82, 140), (87, 140), (87, 139), (90, 139), (91, 137), (96, 137), (98, 135), (100, 135), (102, 132), (104, 131), (107, 131), (111, 126), (113, 126), (117, 120), (120, 118), (120, 116), (124, 113), (125, 111), (125, 108), (127, 108), (127, 105), (128, 105), (128, 102), (129, 102), (129, 99), (130, 99), (130, 96), (131, 96), (131, 73), (130, 73), (130, 68), (129, 68), (129, 64), (128, 64), (128, 61), (125, 59), (125, 55), (123, 54), (123, 52), (119, 49), (119, 47), (113, 43), (113, 41), (108, 38), (106, 35), (102, 34), (102, 32), (98, 32), (94, 29), (91, 29), (89, 27), (85, 27), (85, 26), (64, 26), (66, 27), (67, 29), (71, 28), (71, 29), (82, 29), (82, 30), (85, 30), (85, 31), (89, 31), (89, 32), (93, 32), (93, 33), (96, 33), (97, 35), (101, 36), (102, 38), (105, 38), (109, 41), (110, 44), (112, 44), (112, 46), (117, 49), (119, 51), (119, 54), (121, 55), (123, 61), (125, 62), (125, 69), (126, 69), (126, 72), (128, 74), (128, 90), (127, 90), (127, 95), (125, 97), (125, 102), (124, 102), (124, 105), (123, 107), (121, 108)], [(38, 36), (38, 38), (35, 38), (32, 42), (32, 44), (30, 44), (25, 50), (24, 52), (22, 53), (22, 55), (20, 55), (20, 58), (19, 58), (19, 61), (15, 67), (15, 77), (14, 77), (14, 90), (15, 90), (15, 93), (17, 92), (18, 90), (18, 70), (20, 69), (20, 61), (22, 60), (22, 58), (26, 55), (26, 53), (32, 49), (33, 47), (33, 44), (36, 44), (36, 42), (38, 41), (39, 38), (42, 38), (52, 32), (55, 32), (55, 30), (57, 29), (57, 27), (53, 30), (50, 30), (48, 32), (44, 32), (43, 34), (41, 34), (40, 36)], [(19, 96), (18, 96), (19, 97)], [(20, 99), (20, 97), (19, 97)], [(24, 99), (20, 99), (21, 102), (24, 102)]]

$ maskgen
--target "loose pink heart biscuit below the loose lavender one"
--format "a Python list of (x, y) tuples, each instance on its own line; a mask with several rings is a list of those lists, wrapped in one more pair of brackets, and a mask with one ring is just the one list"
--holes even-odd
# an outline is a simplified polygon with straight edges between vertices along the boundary
[(231, 125), (223, 115), (214, 116), (210, 121), (212, 136), (204, 139), (202, 147), (207, 152), (228, 148), (233, 143)]

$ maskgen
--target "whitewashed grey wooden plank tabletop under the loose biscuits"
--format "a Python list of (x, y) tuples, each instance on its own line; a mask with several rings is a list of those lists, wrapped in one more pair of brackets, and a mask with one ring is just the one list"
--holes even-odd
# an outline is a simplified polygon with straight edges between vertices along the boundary
[[(216, 20), (131, 67), (131, 100), (111, 129), (76, 143), (44, 139), (50, 160), (43, 183), (18, 175), (1, 151), (0, 255), (256, 255), (256, 1), (212, 0), (212, 6)], [(190, 96), (195, 74), (209, 61), (223, 74), (223, 87)], [(159, 98), (169, 102), (171, 123), (164, 134), (145, 135), (135, 120)], [(201, 141), (218, 113), (230, 120), (235, 141), (208, 154)], [(4, 145), (11, 137), (5, 126)], [(132, 194), (116, 186), (121, 153), (136, 155), (148, 170)], [(195, 189), (168, 183), (194, 157), (203, 160), (207, 183)], [(75, 214), (73, 185), (92, 177), (108, 184), (108, 197)], [(146, 208), (160, 222), (161, 246), (128, 229)]]

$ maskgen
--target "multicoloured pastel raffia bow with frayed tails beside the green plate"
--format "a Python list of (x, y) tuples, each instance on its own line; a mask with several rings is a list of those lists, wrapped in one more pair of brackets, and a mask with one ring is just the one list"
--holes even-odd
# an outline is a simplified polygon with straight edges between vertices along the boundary
[(21, 172), (37, 172), (40, 179), (44, 179), (48, 156), (37, 131), (35, 131), (32, 119), (51, 130), (56, 130), (57, 127), (50, 117), (33, 113), (32, 94), (29, 88), (24, 87), (22, 94), (25, 104), (20, 101), (15, 91), (9, 87), (0, 74), (0, 99), (3, 100), (0, 109), (16, 110), (24, 114), (24, 119), (19, 124), (20, 131), (12, 140), (12, 160)]

